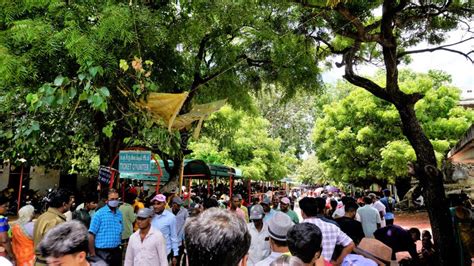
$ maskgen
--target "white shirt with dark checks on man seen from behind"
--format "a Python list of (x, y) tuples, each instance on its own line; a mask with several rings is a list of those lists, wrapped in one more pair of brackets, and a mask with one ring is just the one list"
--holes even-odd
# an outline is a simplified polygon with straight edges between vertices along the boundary
[(307, 218), (303, 222), (315, 224), (321, 230), (321, 233), (323, 234), (322, 255), (326, 261), (331, 261), (332, 253), (334, 253), (336, 244), (345, 247), (352, 242), (352, 239), (334, 224), (324, 222), (321, 219), (315, 217)]

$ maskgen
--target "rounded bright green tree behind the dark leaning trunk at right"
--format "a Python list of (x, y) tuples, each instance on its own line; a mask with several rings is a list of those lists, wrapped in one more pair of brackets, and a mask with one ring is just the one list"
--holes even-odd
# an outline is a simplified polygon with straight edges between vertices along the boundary
[[(374, 79), (383, 80), (382, 73)], [(400, 73), (402, 89), (425, 94), (415, 111), (434, 146), (438, 166), (474, 121), (472, 112), (457, 106), (460, 91), (450, 81), (439, 71)], [(367, 186), (405, 177), (407, 163), (416, 158), (400, 128), (393, 126), (401, 123), (395, 107), (349, 83), (339, 87), (352, 92), (324, 106), (313, 132), (316, 155), (328, 178)]]

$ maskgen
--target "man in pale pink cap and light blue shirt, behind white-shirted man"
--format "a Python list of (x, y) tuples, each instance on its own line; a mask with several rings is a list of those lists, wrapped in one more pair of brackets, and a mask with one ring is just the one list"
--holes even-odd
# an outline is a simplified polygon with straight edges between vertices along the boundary
[(173, 265), (178, 262), (179, 239), (176, 231), (176, 217), (166, 207), (166, 197), (158, 194), (151, 199), (155, 216), (151, 220), (153, 229), (160, 231), (166, 239), (166, 254)]

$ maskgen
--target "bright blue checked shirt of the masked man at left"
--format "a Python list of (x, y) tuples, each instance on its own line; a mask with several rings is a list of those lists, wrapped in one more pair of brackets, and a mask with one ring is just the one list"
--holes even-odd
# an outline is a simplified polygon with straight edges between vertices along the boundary
[(115, 213), (108, 205), (100, 208), (92, 217), (89, 232), (95, 235), (96, 248), (116, 248), (122, 242), (122, 213), (117, 208)]

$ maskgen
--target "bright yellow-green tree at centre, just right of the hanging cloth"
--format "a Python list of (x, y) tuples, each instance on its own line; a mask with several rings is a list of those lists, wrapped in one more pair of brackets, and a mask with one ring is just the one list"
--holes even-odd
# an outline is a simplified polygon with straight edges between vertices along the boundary
[(269, 135), (268, 120), (226, 106), (206, 123), (190, 145), (193, 158), (238, 167), (252, 180), (280, 180), (294, 169), (296, 158), (291, 150), (281, 152), (281, 139)]

